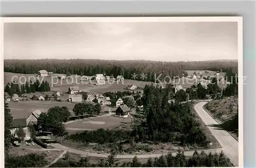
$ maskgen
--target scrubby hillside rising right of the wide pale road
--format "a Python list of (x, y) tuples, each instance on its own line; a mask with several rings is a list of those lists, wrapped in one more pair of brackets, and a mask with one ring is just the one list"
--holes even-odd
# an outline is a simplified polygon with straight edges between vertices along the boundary
[(211, 101), (205, 105), (205, 109), (222, 124), (223, 129), (230, 131), (238, 139), (238, 97)]

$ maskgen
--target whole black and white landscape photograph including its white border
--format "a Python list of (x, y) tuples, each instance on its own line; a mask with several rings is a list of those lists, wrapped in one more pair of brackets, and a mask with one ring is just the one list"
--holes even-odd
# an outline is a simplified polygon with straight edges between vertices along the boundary
[(4, 17), (1, 29), (5, 167), (243, 164), (242, 17)]

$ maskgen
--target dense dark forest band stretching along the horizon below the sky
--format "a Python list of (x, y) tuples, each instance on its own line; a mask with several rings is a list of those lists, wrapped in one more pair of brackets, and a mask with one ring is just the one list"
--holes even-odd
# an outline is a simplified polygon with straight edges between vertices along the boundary
[[(117, 77), (122, 75), (131, 79), (135, 74), (146, 74), (146, 81), (154, 81), (162, 76), (182, 76), (184, 70), (212, 70), (238, 72), (238, 61), (193, 61), (193, 62), (162, 62), (146, 60), (86, 60), (86, 59), (40, 59), (40, 60), (5, 60), (4, 71), (19, 74), (36, 74), (38, 70), (45, 69), (55, 74), (77, 74), (93, 76), (106, 74)], [(161, 79), (161, 78), (159, 78)], [(142, 79), (137, 79), (142, 80)]]

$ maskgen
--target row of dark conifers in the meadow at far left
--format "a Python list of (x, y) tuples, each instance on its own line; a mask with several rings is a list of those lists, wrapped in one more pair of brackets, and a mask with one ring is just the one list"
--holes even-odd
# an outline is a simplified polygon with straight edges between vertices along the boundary
[(31, 80), (29, 82), (26, 82), (26, 84), (20, 85), (18, 82), (8, 82), (7, 85), (5, 86), (5, 92), (7, 92), (9, 95), (13, 95), (14, 93), (18, 94), (21, 96), (24, 93), (34, 93), (36, 91), (39, 92), (45, 92), (45, 91), (50, 91), (51, 87), (49, 85), (49, 82), (47, 80), (42, 81), (41, 83), (39, 80), (36, 80), (35, 82), (32, 82)]

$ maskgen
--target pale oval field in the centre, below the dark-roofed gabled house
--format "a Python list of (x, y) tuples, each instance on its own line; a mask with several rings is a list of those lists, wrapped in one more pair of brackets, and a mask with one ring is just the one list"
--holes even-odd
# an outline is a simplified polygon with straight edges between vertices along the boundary
[(80, 121), (66, 125), (66, 130), (70, 133), (75, 133), (77, 131), (97, 130), (99, 128), (108, 129), (118, 127), (122, 124), (122, 122), (130, 123), (131, 121), (132, 119), (129, 117), (123, 119), (117, 116), (104, 116), (86, 121), (81, 119)]

